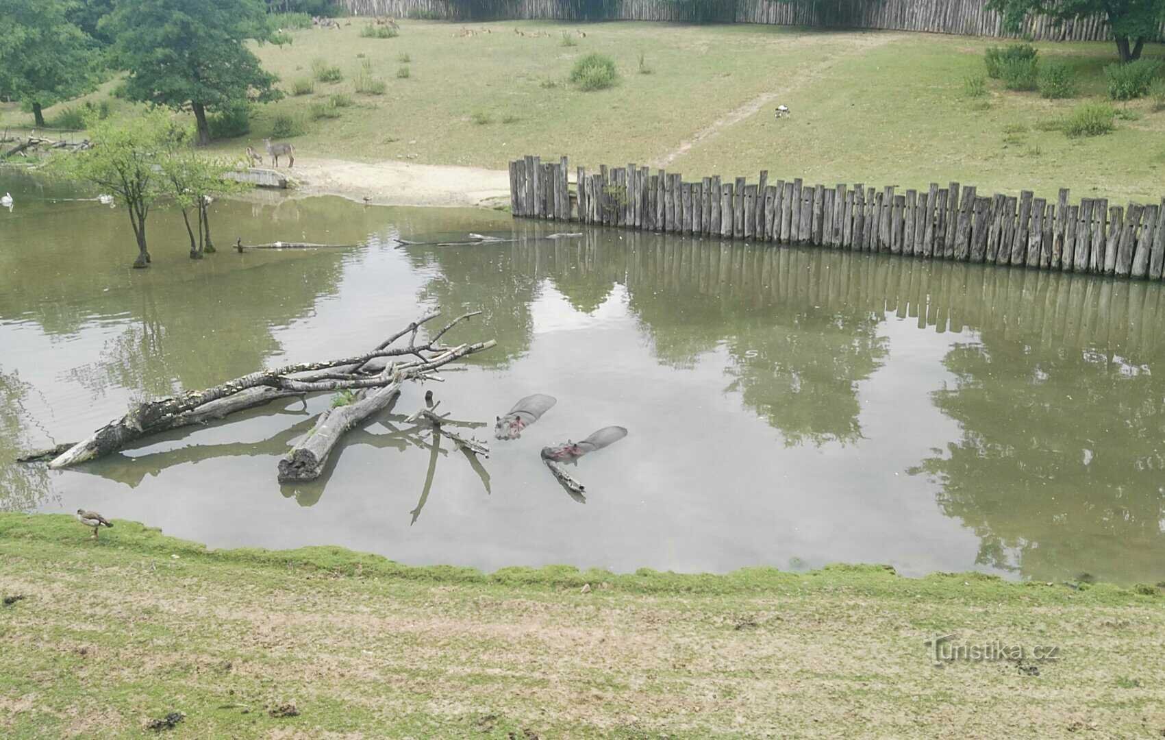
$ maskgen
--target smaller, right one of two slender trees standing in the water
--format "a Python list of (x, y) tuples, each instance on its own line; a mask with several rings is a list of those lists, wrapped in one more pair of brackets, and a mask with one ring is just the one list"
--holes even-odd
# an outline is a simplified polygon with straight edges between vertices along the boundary
[[(243, 167), (241, 162), (198, 156), (188, 146), (184, 136), (175, 136), (161, 163), (169, 196), (182, 210), (182, 220), (190, 237), (190, 259), (200, 260), (203, 254), (213, 253), (211, 240), (210, 204), (214, 196), (239, 192), (245, 185), (224, 178), (226, 172)], [(190, 224), (190, 212), (197, 219)]]

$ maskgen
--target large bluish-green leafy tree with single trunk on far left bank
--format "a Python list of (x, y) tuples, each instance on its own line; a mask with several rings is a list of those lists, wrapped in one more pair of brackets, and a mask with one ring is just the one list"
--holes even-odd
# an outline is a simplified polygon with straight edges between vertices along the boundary
[(118, 0), (100, 28), (129, 71), (127, 97), (192, 111), (199, 145), (211, 141), (207, 111), (282, 96), (245, 45), (273, 36), (262, 0)]

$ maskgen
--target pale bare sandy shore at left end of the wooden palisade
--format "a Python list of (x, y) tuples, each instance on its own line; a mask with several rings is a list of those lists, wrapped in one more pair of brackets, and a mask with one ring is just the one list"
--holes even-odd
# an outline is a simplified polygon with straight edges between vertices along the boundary
[(376, 205), (493, 206), (509, 200), (509, 174), (475, 167), (408, 162), (347, 162), (297, 157), (281, 172), (302, 195), (336, 195)]

